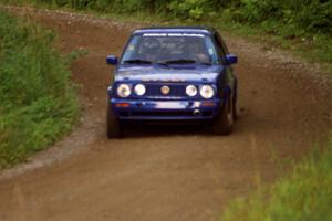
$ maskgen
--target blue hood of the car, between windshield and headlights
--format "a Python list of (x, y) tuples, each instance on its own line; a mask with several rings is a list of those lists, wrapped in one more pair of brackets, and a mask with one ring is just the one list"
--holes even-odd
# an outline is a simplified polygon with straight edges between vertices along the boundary
[(216, 82), (222, 67), (206, 69), (156, 69), (120, 67), (115, 81), (132, 82)]

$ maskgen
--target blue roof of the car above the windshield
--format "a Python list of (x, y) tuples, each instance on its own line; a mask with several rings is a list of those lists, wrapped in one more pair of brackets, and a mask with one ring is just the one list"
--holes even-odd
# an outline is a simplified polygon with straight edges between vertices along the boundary
[(195, 34), (212, 34), (214, 28), (208, 27), (151, 27), (135, 30), (133, 34), (145, 33), (195, 33)]

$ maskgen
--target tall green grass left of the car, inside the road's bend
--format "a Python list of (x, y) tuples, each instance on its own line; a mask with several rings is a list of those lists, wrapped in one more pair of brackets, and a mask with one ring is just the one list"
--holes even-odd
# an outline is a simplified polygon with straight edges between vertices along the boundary
[(0, 24), (0, 168), (8, 168), (69, 133), (79, 103), (55, 34), (3, 10)]

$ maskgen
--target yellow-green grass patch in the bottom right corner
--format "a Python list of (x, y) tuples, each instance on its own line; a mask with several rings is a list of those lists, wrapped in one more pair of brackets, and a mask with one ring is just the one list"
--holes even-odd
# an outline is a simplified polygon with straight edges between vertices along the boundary
[(332, 220), (332, 140), (312, 154), (290, 177), (228, 207), (225, 221)]

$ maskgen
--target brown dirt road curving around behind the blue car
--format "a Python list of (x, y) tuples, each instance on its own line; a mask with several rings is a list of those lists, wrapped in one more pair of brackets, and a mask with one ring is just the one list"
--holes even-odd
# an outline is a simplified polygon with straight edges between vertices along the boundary
[[(283, 175), (288, 159), (303, 156), (331, 123), (332, 87), (326, 78), (313, 76), (313, 67), (227, 36), (240, 60), (236, 71), (242, 108), (231, 136), (153, 127), (107, 140), (111, 67), (105, 55), (120, 54), (137, 24), (70, 13), (24, 13), (56, 30), (62, 51), (89, 50), (72, 67), (74, 81), (82, 85), (84, 113), (82, 125), (40, 158), (76, 154), (43, 167), (37, 156), (27, 167), (2, 172), (1, 221), (220, 220), (229, 200)], [(25, 171), (29, 165), (39, 168)], [(25, 172), (15, 176), (20, 171)]]

